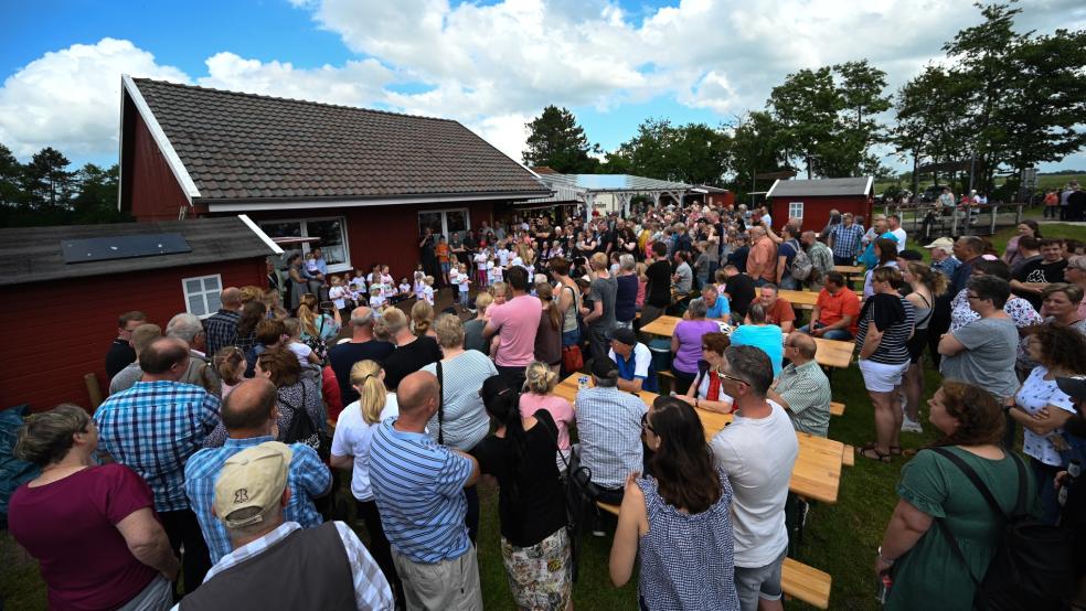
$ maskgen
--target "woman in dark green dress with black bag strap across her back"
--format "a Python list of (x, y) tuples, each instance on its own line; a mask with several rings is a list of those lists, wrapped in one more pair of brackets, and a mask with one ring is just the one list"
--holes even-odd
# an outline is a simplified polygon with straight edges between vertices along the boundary
[[(1018, 499), (1019, 467), (1000, 448), (1003, 411), (982, 388), (946, 382), (928, 401), (931, 425), (944, 437), (935, 447), (952, 452), (980, 476), (1004, 513)], [(1026, 507), (1036, 506), (1032, 473), (1025, 469)], [(894, 583), (885, 609), (972, 609), (975, 585), (982, 579), (999, 545), (1002, 517), (948, 459), (923, 450), (902, 469), (901, 500), (886, 525), (875, 571), (891, 571)], [(945, 519), (965, 561), (939, 533)], [(968, 566), (967, 566), (968, 564)]]

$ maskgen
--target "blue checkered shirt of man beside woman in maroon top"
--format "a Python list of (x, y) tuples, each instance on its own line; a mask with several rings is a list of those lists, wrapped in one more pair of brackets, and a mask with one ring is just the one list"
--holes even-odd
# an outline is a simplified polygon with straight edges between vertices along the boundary
[(219, 397), (180, 382), (137, 382), (94, 412), (98, 450), (140, 474), (155, 510), (189, 508), (184, 463), (219, 424)]

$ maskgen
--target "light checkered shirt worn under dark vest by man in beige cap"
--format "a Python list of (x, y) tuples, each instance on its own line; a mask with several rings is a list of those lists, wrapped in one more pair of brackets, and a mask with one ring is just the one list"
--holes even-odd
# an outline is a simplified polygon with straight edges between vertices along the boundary
[[(385, 580), (381, 568), (377, 567), (370, 553), (366, 551), (365, 546), (359, 540), (358, 535), (342, 522), (336, 522), (334, 524), (340, 540), (343, 542), (343, 551), (347, 553), (347, 560), (351, 565), (351, 576), (354, 578), (354, 600), (358, 603), (358, 608), (360, 610), (386, 610), (395, 607), (388, 581)], [(297, 522), (284, 522), (278, 528), (267, 535), (238, 547), (226, 556), (223, 556), (215, 566), (211, 567), (207, 576), (204, 577), (204, 582), (206, 583), (216, 575), (231, 567), (259, 556), (299, 528), (301, 528), (301, 525)], [(310, 583), (309, 586), (313, 585)], [(179, 609), (179, 607), (174, 607), (173, 609)]]

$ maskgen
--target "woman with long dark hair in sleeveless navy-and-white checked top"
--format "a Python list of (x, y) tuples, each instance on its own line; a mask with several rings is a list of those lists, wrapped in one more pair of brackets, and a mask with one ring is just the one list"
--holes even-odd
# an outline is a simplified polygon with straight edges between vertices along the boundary
[(631, 473), (610, 553), (615, 586), (641, 557), (641, 609), (738, 610), (732, 556), (732, 486), (713, 465), (694, 409), (659, 397), (642, 418), (656, 476)]

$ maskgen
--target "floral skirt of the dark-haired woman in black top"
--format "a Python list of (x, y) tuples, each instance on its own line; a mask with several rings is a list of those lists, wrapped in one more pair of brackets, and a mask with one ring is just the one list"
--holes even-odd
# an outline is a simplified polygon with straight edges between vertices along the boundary
[(564, 526), (531, 547), (517, 547), (502, 537), (501, 556), (518, 609), (568, 608), (573, 593), (573, 559)]

